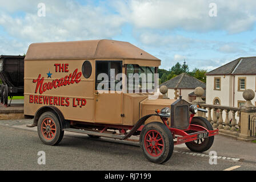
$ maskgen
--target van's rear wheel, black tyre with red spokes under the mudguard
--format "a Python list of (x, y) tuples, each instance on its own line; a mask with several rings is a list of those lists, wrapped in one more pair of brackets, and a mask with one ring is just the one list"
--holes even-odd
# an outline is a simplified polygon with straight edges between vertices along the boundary
[(58, 117), (50, 111), (43, 113), (39, 117), (37, 132), (42, 142), (51, 146), (61, 142), (64, 135)]

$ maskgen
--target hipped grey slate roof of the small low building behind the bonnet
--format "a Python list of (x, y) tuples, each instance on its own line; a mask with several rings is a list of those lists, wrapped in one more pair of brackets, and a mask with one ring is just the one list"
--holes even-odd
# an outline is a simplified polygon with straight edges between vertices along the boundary
[(169, 89), (195, 89), (198, 86), (206, 88), (206, 84), (197, 78), (188, 75), (187, 73), (181, 73), (177, 77), (171, 78), (166, 82), (163, 82), (159, 86), (165, 85)]

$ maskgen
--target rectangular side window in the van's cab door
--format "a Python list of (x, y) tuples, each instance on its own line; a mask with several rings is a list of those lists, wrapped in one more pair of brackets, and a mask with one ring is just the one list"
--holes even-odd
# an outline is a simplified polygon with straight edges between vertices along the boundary
[[(117, 74), (122, 73), (122, 61), (96, 61), (95, 90), (121, 90), (116, 88)], [(102, 74), (103, 73), (103, 74)]]

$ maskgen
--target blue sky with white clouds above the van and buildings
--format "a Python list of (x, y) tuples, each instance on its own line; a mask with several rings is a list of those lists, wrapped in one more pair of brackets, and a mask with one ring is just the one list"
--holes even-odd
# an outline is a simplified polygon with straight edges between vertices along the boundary
[(163, 69), (185, 60), (190, 71), (211, 71), (256, 56), (255, 23), (255, 0), (0, 0), (0, 55), (38, 42), (113, 39), (158, 57)]

